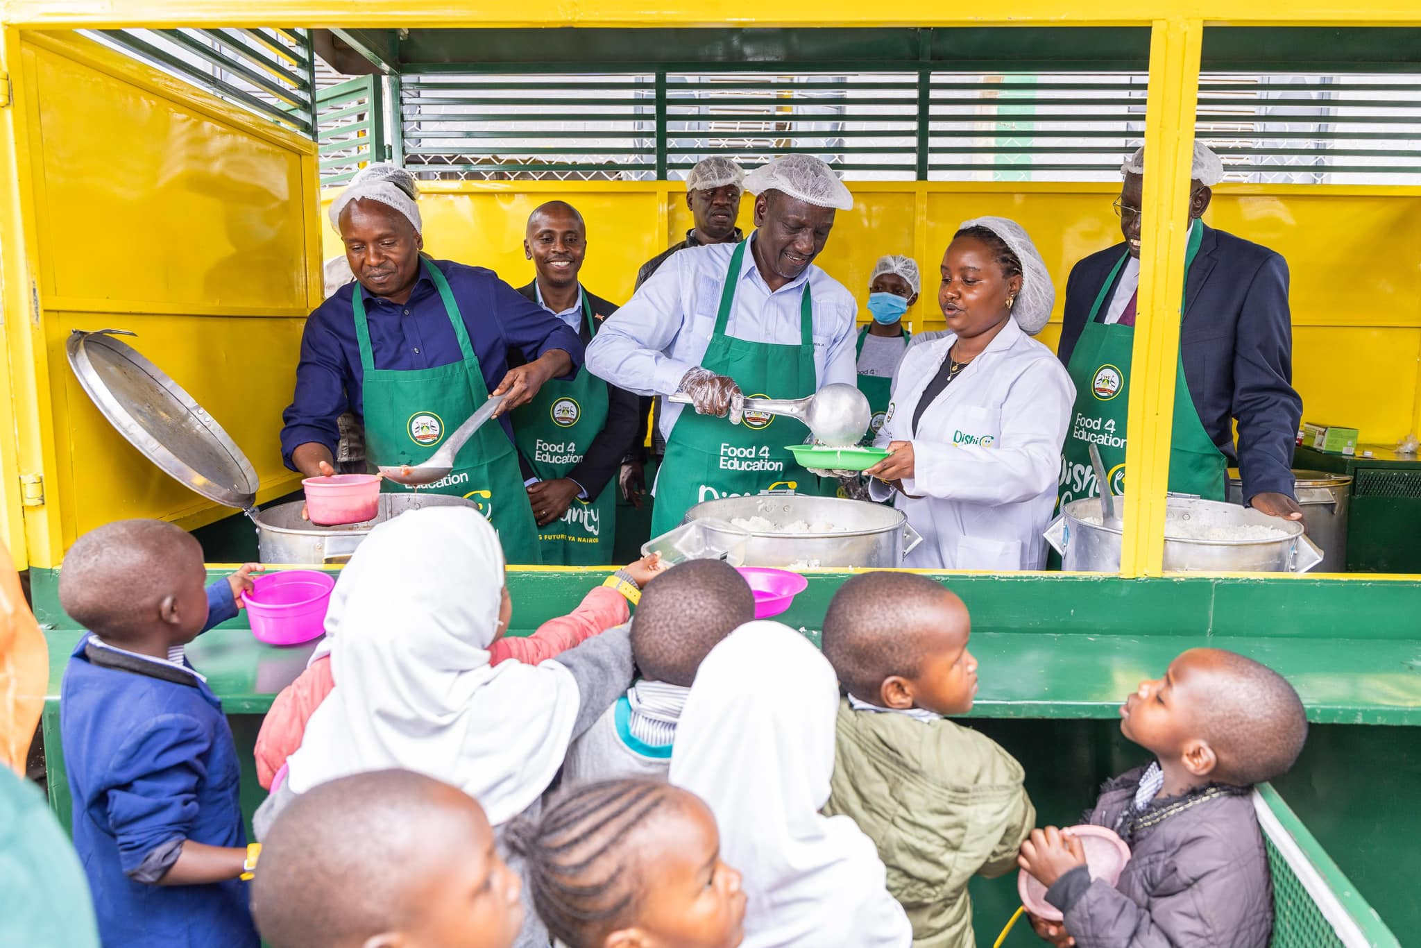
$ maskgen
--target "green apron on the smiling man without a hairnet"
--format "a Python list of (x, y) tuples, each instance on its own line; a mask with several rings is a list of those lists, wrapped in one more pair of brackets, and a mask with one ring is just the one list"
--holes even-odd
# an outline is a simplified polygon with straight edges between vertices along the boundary
[[(583, 318), (595, 333), (587, 290), (581, 294)], [(533, 401), (513, 409), (513, 443), (540, 480), (566, 478), (607, 425), (607, 382), (585, 370), (570, 382), (550, 379)], [(539, 527), (544, 566), (604, 566), (612, 561), (615, 537), (615, 478), (591, 500), (573, 497), (560, 519)]]

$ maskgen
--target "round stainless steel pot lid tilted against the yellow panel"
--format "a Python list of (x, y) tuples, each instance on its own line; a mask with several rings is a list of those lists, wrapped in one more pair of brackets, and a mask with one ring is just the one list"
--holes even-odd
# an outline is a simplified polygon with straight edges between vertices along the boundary
[(257, 499), (257, 472), (207, 411), (161, 368), (114, 335), (126, 330), (70, 334), (70, 368), (109, 424), (162, 468), (209, 500), (247, 510)]

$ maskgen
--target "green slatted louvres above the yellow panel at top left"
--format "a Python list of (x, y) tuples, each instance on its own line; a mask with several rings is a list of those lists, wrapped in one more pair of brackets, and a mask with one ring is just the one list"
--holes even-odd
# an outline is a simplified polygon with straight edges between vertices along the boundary
[(297, 132), (314, 132), (310, 30), (99, 30), (85, 36)]

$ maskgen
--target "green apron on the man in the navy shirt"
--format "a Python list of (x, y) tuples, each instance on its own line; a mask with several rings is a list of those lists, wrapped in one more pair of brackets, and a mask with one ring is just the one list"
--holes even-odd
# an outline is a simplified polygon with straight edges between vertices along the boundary
[[(355, 340), (360, 343), (360, 362), (365, 372), (361, 397), (365, 406), (365, 443), (378, 463), (419, 465), (439, 449), (445, 435), (469, 418), (489, 398), (483, 384), (479, 357), (469, 343), (459, 304), (439, 267), (421, 263), (439, 290), (453, 334), (459, 340), (462, 362), (438, 368), (389, 370), (375, 368), (369, 348), (369, 324), (365, 301), (355, 289)], [(388, 478), (382, 490), (414, 490)], [(459, 449), (453, 470), (443, 480), (419, 488), (431, 493), (452, 493), (473, 500), (499, 532), (506, 563), (541, 563), (539, 559), (537, 524), (529, 509), (527, 490), (519, 472), (519, 459), (496, 421), (479, 428)]]

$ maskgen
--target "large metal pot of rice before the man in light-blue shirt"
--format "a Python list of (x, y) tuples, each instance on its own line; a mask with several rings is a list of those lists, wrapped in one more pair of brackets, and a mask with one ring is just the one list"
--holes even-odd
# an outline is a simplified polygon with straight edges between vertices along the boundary
[[(799, 493), (762, 493), (749, 497), (706, 500), (686, 510), (684, 523), (716, 519), (726, 523), (743, 517), (764, 517), (776, 526), (804, 520), (831, 523), (831, 533), (756, 533), (745, 544), (745, 566), (774, 567), (895, 567), (902, 566), (922, 543), (908, 517), (892, 507), (841, 497), (810, 497)], [(713, 532), (713, 530), (712, 530)], [(725, 537), (726, 543), (737, 540)]]

